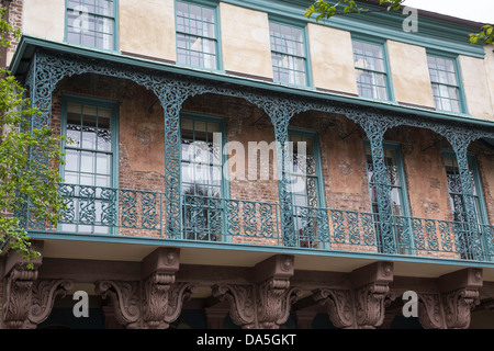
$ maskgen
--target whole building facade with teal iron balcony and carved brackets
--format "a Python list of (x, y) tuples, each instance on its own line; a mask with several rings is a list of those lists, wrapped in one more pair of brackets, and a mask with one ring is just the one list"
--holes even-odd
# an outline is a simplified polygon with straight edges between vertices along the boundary
[(494, 327), (494, 47), (310, 4), (4, 1), (33, 127), (71, 143), (3, 328)]

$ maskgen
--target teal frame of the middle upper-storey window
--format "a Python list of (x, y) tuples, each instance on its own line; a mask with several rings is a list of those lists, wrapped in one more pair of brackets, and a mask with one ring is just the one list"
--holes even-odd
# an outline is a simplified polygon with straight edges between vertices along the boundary
[[(303, 47), (304, 47), (304, 53), (305, 56), (297, 56), (297, 55), (291, 55), (291, 54), (287, 54), (287, 53), (281, 53), (281, 52), (277, 52), (273, 50), (273, 47), (271, 45), (271, 30), (270, 30), (270, 24), (271, 23), (276, 23), (276, 24), (280, 24), (280, 25), (284, 25), (284, 26), (290, 26), (290, 27), (295, 27), (299, 30), (302, 30), (302, 36), (303, 36)], [(308, 43), (308, 32), (307, 32), (307, 23), (306, 22), (302, 22), (302, 21), (294, 21), (294, 20), (287, 20), (283, 18), (280, 18), (278, 15), (272, 15), (269, 14), (268, 16), (268, 30), (269, 30), (269, 49), (270, 49), (270, 60), (271, 60), (271, 69), (273, 72), (273, 82), (274, 83), (279, 83), (279, 84), (285, 84), (289, 87), (295, 87), (295, 88), (312, 88), (313, 81), (312, 81), (312, 65), (311, 65), (311, 50), (310, 50), (310, 43)], [(281, 54), (281, 55), (289, 55), (291, 57), (296, 57), (296, 58), (303, 58), (304, 59), (304, 69), (305, 69), (305, 84), (301, 86), (301, 84), (292, 84), (289, 82), (283, 82), (280, 80), (276, 80), (274, 79), (274, 65), (272, 61), (272, 55), (273, 53), (276, 54)], [(293, 71), (293, 70), (290, 70)]]

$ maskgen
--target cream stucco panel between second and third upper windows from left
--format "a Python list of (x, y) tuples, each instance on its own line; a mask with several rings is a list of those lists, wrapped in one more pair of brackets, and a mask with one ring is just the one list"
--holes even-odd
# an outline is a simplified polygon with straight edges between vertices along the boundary
[(271, 78), (268, 14), (220, 3), (223, 69)]

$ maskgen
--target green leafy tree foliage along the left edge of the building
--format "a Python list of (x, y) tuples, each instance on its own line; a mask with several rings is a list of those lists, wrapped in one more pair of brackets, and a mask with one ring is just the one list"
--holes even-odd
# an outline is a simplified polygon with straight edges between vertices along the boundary
[[(8, 47), (10, 38), (19, 35), (19, 30), (5, 21), (5, 9), (1, 9), (0, 45)], [(15, 77), (5, 69), (0, 69), (0, 241), (9, 240), (10, 247), (29, 261), (40, 252), (31, 249), (26, 210), (32, 218), (53, 225), (65, 205), (56, 186), (61, 181), (57, 167), (63, 156), (60, 137), (54, 137), (48, 126), (31, 128), (41, 112), (30, 107)]]

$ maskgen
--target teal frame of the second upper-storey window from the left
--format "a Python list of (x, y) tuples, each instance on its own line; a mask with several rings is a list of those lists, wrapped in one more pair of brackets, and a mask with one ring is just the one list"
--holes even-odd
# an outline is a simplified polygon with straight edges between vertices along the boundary
[[(192, 35), (186, 32), (179, 32), (178, 27), (177, 27), (177, 2), (183, 2), (183, 3), (188, 3), (188, 4), (193, 4), (193, 5), (198, 5), (198, 7), (202, 7), (202, 8), (209, 8), (211, 10), (213, 10), (214, 12), (214, 42), (215, 42), (215, 63), (216, 63), (216, 67), (215, 68), (205, 68), (205, 67), (201, 67), (201, 66), (194, 66), (194, 65), (188, 65), (188, 64), (182, 64), (179, 63), (178, 60), (178, 39), (177, 39), (177, 35), (178, 34), (183, 34), (183, 35), (189, 35), (189, 36), (198, 36), (201, 38), (207, 38), (211, 39), (211, 37), (206, 37), (203, 35)], [(201, 70), (206, 70), (206, 71), (223, 71), (223, 53), (222, 53), (222, 35), (221, 35), (221, 23), (220, 23), (220, 2), (218, 1), (206, 1), (206, 0), (175, 0), (173, 1), (173, 19), (175, 19), (175, 49), (176, 49), (176, 64), (179, 66), (183, 66), (183, 67), (189, 67), (189, 68), (194, 68), (194, 69), (201, 69)]]

